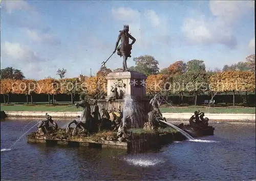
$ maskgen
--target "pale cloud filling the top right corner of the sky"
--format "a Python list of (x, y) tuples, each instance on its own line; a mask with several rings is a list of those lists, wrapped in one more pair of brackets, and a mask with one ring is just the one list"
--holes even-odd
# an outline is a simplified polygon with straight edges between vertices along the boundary
[(209, 8), (213, 15), (233, 23), (254, 9), (254, 1), (209, 1)]

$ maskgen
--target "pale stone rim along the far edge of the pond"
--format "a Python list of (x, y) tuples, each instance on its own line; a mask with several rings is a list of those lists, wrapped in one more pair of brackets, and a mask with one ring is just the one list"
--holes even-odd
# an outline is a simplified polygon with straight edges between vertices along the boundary
[[(8, 117), (34, 117), (44, 118), (46, 113), (56, 118), (74, 118), (81, 112), (44, 112), (44, 111), (5, 111)], [(189, 119), (193, 113), (163, 113), (166, 119)], [(255, 121), (255, 114), (213, 114), (205, 113), (210, 120), (250, 120)]]

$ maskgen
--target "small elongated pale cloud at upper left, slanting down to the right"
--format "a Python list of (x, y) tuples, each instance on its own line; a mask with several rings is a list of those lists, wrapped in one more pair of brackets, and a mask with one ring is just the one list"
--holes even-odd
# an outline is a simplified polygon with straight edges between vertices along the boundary
[(35, 42), (42, 42), (48, 44), (59, 44), (59, 39), (49, 33), (39, 33), (36, 30), (26, 29), (27, 35)]

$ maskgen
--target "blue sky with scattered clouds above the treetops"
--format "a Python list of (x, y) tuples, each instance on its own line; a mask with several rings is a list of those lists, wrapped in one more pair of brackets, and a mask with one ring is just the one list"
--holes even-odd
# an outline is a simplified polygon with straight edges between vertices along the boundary
[[(2, 1), (1, 68), (25, 76), (66, 77), (96, 73), (130, 25), (137, 39), (132, 58), (151, 55), (165, 68), (204, 60), (207, 69), (255, 54), (254, 1)], [(121, 67), (116, 54), (106, 66)]]

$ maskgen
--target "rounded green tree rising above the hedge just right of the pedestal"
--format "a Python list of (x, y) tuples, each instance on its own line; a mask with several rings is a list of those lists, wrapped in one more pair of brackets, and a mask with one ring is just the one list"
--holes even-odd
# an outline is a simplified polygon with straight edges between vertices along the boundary
[(136, 62), (135, 71), (144, 73), (146, 76), (159, 73), (158, 61), (149, 55), (135, 57)]

